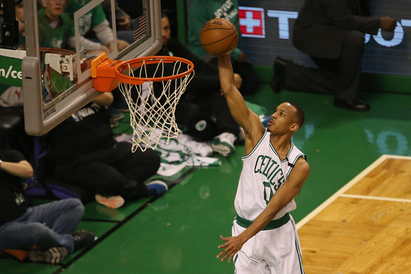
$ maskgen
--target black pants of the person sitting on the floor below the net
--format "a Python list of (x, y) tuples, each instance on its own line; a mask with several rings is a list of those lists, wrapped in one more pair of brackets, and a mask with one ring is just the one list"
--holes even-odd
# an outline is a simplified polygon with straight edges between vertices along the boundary
[(132, 144), (117, 142), (56, 166), (56, 176), (63, 182), (82, 186), (97, 194), (125, 198), (147, 196), (145, 180), (160, 167), (160, 156), (151, 149), (132, 153)]

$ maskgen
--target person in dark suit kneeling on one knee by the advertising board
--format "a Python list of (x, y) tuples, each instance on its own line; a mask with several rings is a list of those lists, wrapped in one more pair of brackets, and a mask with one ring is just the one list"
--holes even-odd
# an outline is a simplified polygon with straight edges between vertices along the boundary
[(293, 27), (293, 45), (310, 55), (318, 69), (284, 60), (274, 62), (271, 87), (334, 94), (334, 105), (367, 111), (358, 99), (364, 34), (393, 32), (397, 21), (370, 17), (369, 0), (306, 0)]

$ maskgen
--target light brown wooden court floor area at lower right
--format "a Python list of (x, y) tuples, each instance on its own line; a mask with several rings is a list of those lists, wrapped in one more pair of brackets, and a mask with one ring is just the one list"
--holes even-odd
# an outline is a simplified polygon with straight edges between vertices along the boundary
[(411, 157), (382, 155), (297, 228), (306, 274), (411, 273)]

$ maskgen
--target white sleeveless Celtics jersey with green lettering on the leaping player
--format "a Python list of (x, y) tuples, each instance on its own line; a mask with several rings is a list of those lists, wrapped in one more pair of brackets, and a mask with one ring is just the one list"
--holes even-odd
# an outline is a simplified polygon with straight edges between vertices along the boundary
[[(234, 207), (238, 216), (253, 221), (266, 208), (275, 191), (284, 184), (298, 158), (304, 155), (291, 142), (286, 159), (280, 160), (270, 142), (271, 133), (265, 130), (253, 151), (242, 157), (242, 171)], [(295, 210), (294, 200), (280, 210), (274, 219)]]

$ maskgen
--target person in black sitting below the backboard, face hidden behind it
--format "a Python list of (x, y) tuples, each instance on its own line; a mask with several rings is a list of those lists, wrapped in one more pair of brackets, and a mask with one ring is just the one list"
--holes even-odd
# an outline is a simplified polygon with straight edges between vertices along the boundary
[(105, 108), (111, 92), (73, 113), (47, 136), (55, 178), (95, 193), (98, 203), (119, 208), (125, 200), (162, 195), (167, 185), (145, 181), (158, 171), (160, 156), (152, 149), (132, 152), (129, 142), (116, 142)]

